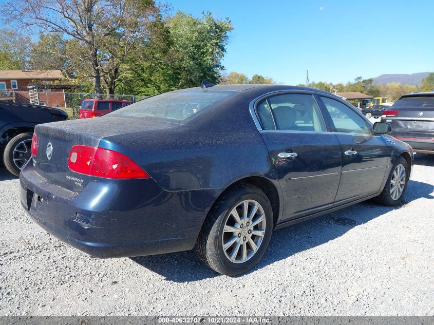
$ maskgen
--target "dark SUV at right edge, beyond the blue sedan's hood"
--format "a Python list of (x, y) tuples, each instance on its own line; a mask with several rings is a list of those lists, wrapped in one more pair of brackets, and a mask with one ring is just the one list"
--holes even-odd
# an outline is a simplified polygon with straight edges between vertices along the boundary
[(385, 110), (381, 121), (392, 125), (391, 135), (420, 154), (434, 154), (434, 92), (403, 95)]

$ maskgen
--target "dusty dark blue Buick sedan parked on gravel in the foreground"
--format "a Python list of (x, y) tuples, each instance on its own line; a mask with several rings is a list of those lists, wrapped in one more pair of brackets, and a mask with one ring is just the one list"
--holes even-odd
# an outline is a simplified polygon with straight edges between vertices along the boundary
[(389, 131), (311, 88), (177, 90), (98, 119), (36, 126), (21, 202), (92, 256), (195, 247), (213, 270), (235, 275), (260, 260), (275, 228), (374, 197), (400, 204), (412, 152)]

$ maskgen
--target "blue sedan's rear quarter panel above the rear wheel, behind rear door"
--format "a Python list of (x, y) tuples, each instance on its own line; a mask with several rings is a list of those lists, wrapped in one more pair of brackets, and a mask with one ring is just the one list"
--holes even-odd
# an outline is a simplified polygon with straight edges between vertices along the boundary
[(130, 157), (168, 191), (223, 189), (243, 177), (272, 174), (249, 98), (241, 93), (184, 125), (107, 137), (100, 147)]

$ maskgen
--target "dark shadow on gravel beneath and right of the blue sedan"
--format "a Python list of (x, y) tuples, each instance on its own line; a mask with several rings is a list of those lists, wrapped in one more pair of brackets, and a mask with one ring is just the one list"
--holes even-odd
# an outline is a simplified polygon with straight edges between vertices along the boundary
[[(408, 204), (419, 198), (434, 199), (433, 191), (434, 186), (431, 184), (410, 180), (403, 204)], [(378, 205), (374, 201), (368, 200), (274, 231), (267, 252), (247, 274), (341, 237), (353, 227), (399, 208), (400, 206)], [(164, 276), (169, 281), (194, 282), (219, 276), (202, 264), (193, 251), (134, 257), (132, 259), (143, 267)]]

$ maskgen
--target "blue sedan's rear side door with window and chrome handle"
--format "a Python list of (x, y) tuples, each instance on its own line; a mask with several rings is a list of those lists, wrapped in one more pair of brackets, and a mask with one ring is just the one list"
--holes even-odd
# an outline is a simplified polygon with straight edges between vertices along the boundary
[(333, 205), (341, 145), (310, 93), (278, 93), (256, 102), (258, 128), (284, 196), (281, 221)]

